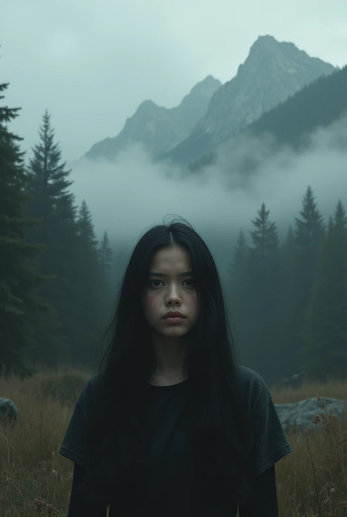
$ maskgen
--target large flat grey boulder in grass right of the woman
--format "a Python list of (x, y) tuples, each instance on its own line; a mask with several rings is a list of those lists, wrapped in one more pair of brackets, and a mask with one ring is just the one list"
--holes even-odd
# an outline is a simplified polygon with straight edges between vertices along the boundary
[[(298, 428), (299, 434), (305, 432), (305, 428), (308, 427), (310, 431), (319, 431), (325, 429), (326, 425), (321, 417), (321, 423), (317, 425), (312, 422), (314, 415), (320, 413), (329, 414), (332, 410), (332, 415), (338, 419), (342, 418), (342, 408), (345, 412), (345, 424), (347, 424), (347, 400), (333, 399), (329, 397), (321, 397), (321, 400), (317, 400), (317, 397), (311, 397), (310, 399), (301, 400), (299, 402), (292, 402), (288, 404), (275, 404), (279, 419), (281, 421), (283, 431), (295, 430)], [(324, 401), (324, 409), (321, 407)]]

